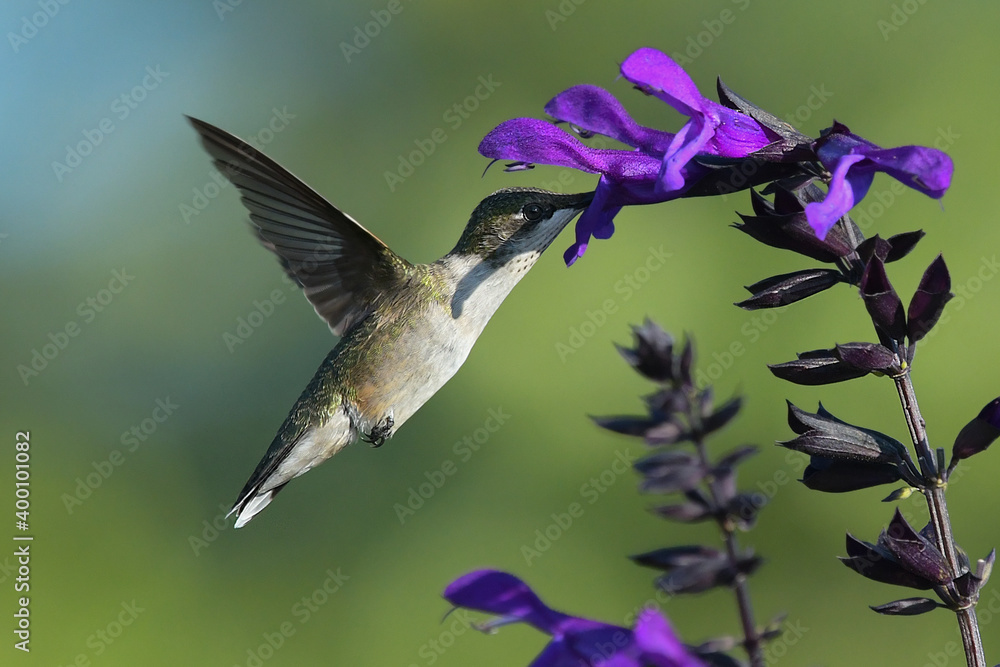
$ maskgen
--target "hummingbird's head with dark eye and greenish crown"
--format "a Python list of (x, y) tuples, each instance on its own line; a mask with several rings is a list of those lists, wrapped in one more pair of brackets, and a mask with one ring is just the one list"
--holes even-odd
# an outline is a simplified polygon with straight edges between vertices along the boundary
[(593, 192), (562, 195), (537, 188), (505, 188), (480, 202), (453, 255), (476, 256), (499, 267), (515, 261), (527, 271)]

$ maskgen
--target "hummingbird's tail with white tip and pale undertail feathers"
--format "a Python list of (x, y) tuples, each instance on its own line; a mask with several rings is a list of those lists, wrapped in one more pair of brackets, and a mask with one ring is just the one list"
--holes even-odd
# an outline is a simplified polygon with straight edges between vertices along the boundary
[(239, 499), (229, 510), (229, 514), (236, 514), (236, 528), (245, 526), (267, 507), (288, 482), (306, 474), (358, 439), (358, 432), (343, 409), (327, 415), (319, 425), (297, 422), (300, 414), (292, 409), (264, 458), (240, 491)]

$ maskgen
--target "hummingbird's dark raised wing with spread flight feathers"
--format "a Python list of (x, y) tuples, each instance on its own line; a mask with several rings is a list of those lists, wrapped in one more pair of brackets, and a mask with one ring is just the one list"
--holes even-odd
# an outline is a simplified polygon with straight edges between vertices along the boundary
[(265, 247), (316, 313), (343, 335), (372, 309), (370, 285), (404, 281), (412, 266), (374, 234), (242, 139), (187, 117), (216, 167), (242, 194)]

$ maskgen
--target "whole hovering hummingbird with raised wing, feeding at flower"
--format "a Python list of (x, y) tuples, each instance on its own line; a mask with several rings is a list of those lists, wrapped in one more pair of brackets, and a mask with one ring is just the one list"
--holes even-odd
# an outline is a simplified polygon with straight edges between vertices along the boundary
[(458, 371), (487, 322), (593, 192), (505, 188), (455, 247), (411, 264), (253, 146), (188, 117), (257, 238), (340, 340), (233, 505), (240, 528), (292, 479), (359, 439), (381, 446)]

